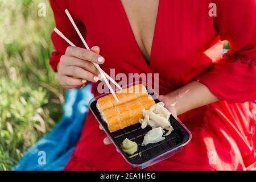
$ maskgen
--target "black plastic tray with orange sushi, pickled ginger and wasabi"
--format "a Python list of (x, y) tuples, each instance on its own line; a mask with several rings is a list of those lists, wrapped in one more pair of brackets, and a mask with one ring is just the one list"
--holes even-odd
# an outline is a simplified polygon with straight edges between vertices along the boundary
[(191, 139), (189, 130), (156, 99), (145, 82), (90, 100), (89, 107), (120, 154), (135, 168), (169, 158)]

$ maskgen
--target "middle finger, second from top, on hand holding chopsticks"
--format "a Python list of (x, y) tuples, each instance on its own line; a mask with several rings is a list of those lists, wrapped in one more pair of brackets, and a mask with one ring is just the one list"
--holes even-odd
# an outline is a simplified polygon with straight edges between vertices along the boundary
[(63, 56), (61, 61), (66, 66), (80, 67), (86, 71), (93, 73), (94, 75), (100, 74), (98, 69), (96, 69), (90, 61), (82, 60), (74, 56)]

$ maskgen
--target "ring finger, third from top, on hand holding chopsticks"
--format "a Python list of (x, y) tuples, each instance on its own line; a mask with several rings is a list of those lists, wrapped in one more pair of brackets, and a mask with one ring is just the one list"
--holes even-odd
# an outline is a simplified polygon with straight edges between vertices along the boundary
[(81, 78), (83, 80), (87, 80), (90, 82), (97, 82), (99, 80), (98, 76), (93, 75), (93, 73), (90, 73), (82, 68), (69, 66), (66, 67), (64, 73), (65, 75), (69, 75), (76, 78)]

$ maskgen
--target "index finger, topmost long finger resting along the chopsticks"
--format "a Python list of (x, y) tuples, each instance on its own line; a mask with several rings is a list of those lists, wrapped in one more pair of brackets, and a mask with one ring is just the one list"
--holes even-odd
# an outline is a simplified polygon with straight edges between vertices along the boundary
[(102, 64), (104, 63), (104, 57), (97, 55), (93, 51), (83, 49), (80, 47), (68, 47), (65, 52), (66, 56), (75, 56), (82, 60), (88, 60), (93, 63)]

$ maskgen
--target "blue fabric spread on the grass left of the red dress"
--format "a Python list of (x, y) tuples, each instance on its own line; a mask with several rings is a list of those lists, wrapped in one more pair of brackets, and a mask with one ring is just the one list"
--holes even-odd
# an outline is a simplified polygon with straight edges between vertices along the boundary
[[(88, 102), (92, 97), (90, 85), (83, 89), (68, 90), (61, 121), (26, 152), (13, 170), (62, 170), (79, 140)], [(44, 156), (45, 160), (41, 160)]]

